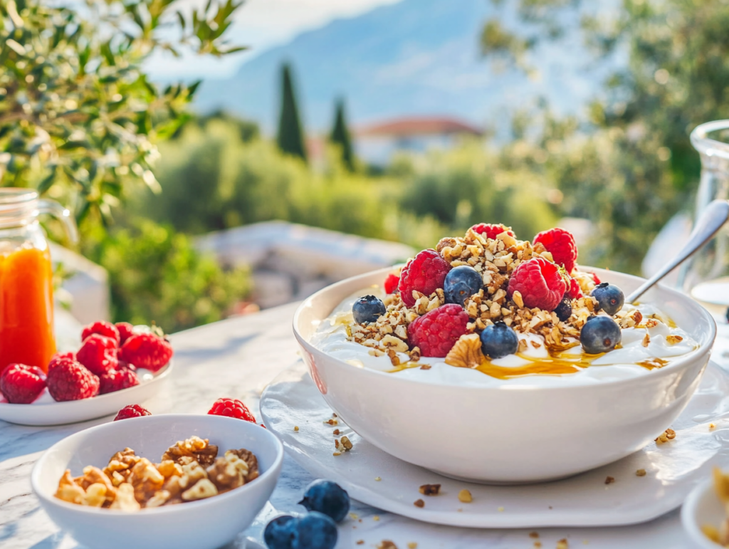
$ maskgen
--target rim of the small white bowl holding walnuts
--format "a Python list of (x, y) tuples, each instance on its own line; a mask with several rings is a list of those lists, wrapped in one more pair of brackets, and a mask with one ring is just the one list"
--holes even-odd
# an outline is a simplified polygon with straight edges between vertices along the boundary
[[(214, 415), (208, 415), (208, 414), (201, 414), (201, 413), (160, 413), (156, 416), (142, 416), (140, 418), (128, 418), (123, 421), (160, 421), (160, 418), (165, 419), (180, 419), (180, 418), (190, 418), (190, 417), (204, 417), (204, 418), (214, 418), (211, 419), (211, 421), (235, 421), (235, 422), (241, 422), (243, 420), (238, 418), (230, 418), (227, 416), (214, 416)], [(240, 423), (238, 423), (240, 424)], [(250, 424), (251, 427), (257, 427), (258, 429), (262, 429), (266, 434), (263, 435), (264, 437), (269, 437), (270, 440), (273, 440), (273, 445), (276, 448), (276, 459), (273, 460), (273, 464), (268, 467), (267, 470), (262, 472), (261, 475), (259, 475), (254, 480), (265, 480), (268, 479), (272, 475), (278, 476), (278, 469), (281, 467), (281, 464), (284, 462), (284, 445), (281, 443), (281, 440), (278, 440), (278, 437), (276, 435), (273, 435), (272, 432), (270, 432), (268, 429), (265, 429), (264, 427), (261, 427), (259, 424), (254, 424), (252, 421), (243, 421), (243, 424)], [(42, 470), (42, 467), (44, 466), (44, 462), (46, 459), (48, 459), (48, 456), (50, 455), (50, 452), (58, 445), (61, 445), (62, 443), (65, 443), (67, 440), (78, 437), (80, 435), (88, 435), (89, 433), (98, 432), (104, 429), (108, 429), (110, 425), (114, 425), (114, 421), (109, 421), (107, 423), (96, 425), (95, 427), (89, 427), (88, 429), (82, 429), (81, 431), (75, 432), (73, 435), (69, 435), (68, 437), (64, 437), (63, 439), (59, 440), (54, 445), (50, 446), (50, 448), (47, 448), (46, 451), (43, 452), (42, 456), (39, 457), (36, 464), (33, 466), (33, 470), (31, 471), (31, 487), (33, 488), (34, 494), (36, 494), (36, 497), (38, 499), (41, 499), (42, 502), (47, 503), (48, 505), (58, 505), (63, 509), (67, 510), (73, 510), (77, 511), (78, 513), (87, 513), (89, 515), (98, 515), (98, 516), (124, 516), (124, 517), (139, 517), (139, 513), (143, 513), (144, 516), (147, 515), (166, 515), (170, 513), (179, 513), (180, 505), (168, 505), (168, 506), (162, 506), (162, 507), (153, 507), (152, 509), (141, 509), (138, 512), (135, 513), (129, 513), (128, 511), (122, 511), (119, 509), (106, 509), (102, 507), (89, 507), (87, 505), (78, 505), (76, 503), (70, 503), (63, 501), (63, 499), (58, 499), (54, 496), (47, 496), (44, 494), (42, 489), (39, 487), (39, 477), (40, 472)], [(246, 429), (248, 427), (245, 427)], [(231, 499), (233, 497), (238, 497), (240, 494), (242, 494), (245, 491), (249, 491), (252, 488), (249, 486), (254, 482), (252, 480), (249, 483), (244, 484), (243, 486), (238, 486), (238, 488), (233, 488), (233, 490), (225, 492), (225, 494), (217, 494), (214, 497), (208, 497), (206, 499), (198, 499), (197, 501), (193, 502), (185, 502), (184, 507), (182, 510), (186, 509), (195, 509), (197, 507), (200, 507), (201, 505), (211, 505), (212, 502), (225, 502), (227, 499)], [(181, 504), (182, 505), (182, 504)], [(192, 507), (190, 507), (192, 506)]]

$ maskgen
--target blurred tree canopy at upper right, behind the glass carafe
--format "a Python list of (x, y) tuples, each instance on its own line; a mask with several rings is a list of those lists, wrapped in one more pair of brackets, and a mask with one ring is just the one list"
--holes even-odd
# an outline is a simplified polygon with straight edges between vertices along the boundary
[[(532, 31), (512, 32), (498, 17), (487, 21), (481, 47), (488, 58), (538, 70), (530, 52), (561, 39), (566, 13), (582, 8), (582, 37), (596, 58), (627, 52), (625, 69), (604, 82), (602, 97), (590, 105), (587, 127), (547, 113), (537, 141), (549, 155), (540, 169), (559, 178), (564, 214), (597, 225), (594, 260), (636, 272), (660, 227), (692, 201), (700, 163), (688, 134), (701, 122), (729, 118), (729, 2), (622, 0), (617, 9), (581, 0), (516, 5)], [(569, 128), (558, 136), (561, 142), (551, 135), (555, 122)], [(555, 154), (568, 144), (582, 155)]]

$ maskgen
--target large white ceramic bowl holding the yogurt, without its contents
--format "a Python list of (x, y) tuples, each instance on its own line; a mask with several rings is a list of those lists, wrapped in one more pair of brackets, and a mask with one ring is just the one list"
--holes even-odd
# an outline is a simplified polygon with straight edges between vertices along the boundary
[[(625, 295), (643, 282), (585, 269), (617, 284)], [(308, 297), (294, 316), (294, 334), (324, 400), (355, 432), (405, 462), (453, 478), (555, 480), (639, 451), (685, 408), (716, 335), (706, 309), (658, 284), (643, 303), (657, 304), (698, 349), (634, 378), (598, 383), (582, 378), (564, 386), (433, 383), (348, 364), (311, 344), (319, 324), (343, 299), (382, 284), (388, 273), (386, 268), (355, 276)]]

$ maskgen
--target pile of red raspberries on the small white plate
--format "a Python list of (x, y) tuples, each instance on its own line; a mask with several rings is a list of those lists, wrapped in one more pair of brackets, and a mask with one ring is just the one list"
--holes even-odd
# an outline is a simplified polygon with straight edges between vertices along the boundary
[(157, 327), (98, 321), (84, 327), (81, 348), (57, 353), (47, 373), (11, 364), (0, 375), (0, 392), (10, 404), (30, 404), (48, 389), (57, 402), (82, 400), (139, 385), (137, 369), (158, 373), (172, 358), (172, 346)]

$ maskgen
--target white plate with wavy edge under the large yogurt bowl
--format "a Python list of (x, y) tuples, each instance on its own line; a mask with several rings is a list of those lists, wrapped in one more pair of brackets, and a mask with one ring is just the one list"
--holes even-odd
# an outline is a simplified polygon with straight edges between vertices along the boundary
[[(432, 405), (437, 407), (438, 403)], [(691, 489), (711, 474), (714, 465), (729, 465), (729, 445), (725, 444), (729, 439), (729, 373), (713, 362), (674, 423), (677, 435), (671, 442), (650, 443), (619, 462), (572, 478), (524, 486), (452, 480), (390, 456), (346, 425), (324, 424), (332, 417), (332, 410), (302, 362), (270, 383), (262, 394), (260, 409), (265, 426), (313, 475), (335, 480), (354, 499), (368, 505), (450, 526), (615, 526), (650, 521), (679, 507)], [(715, 429), (709, 428), (712, 423)], [(332, 434), (334, 429), (349, 437), (354, 445), (350, 452), (332, 455), (337, 438)], [(529, 432), (514, 436), (529, 437)], [(599, 436), (600, 426), (596, 425), (595, 437)], [(433, 440), (433, 444), (438, 441)], [(469, 451), (468, 440), (463, 441), (462, 451)], [(639, 469), (646, 470), (647, 475), (636, 476)], [(606, 484), (607, 477), (615, 482)], [(435, 483), (442, 485), (440, 495), (419, 494), (419, 486)], [(471, 492), (472, 503), (459, 502), (458, 493), (464, 488)], [(424, 499), (425, 507), (413, 505), (417, 499)]]

